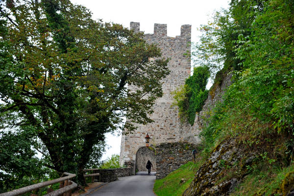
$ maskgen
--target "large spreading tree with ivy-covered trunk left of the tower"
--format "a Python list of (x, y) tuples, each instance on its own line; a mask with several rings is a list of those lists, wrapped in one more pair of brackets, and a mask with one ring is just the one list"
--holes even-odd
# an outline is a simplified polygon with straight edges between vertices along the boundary
[(167, 60), (142, 33), (94, 21), (69, 0), (6, 0), (0, 14), (1, 128), (33, 132), (47, 167), (84, 184), (93, 147), (123, 116), (130, 131), (151, 122)]

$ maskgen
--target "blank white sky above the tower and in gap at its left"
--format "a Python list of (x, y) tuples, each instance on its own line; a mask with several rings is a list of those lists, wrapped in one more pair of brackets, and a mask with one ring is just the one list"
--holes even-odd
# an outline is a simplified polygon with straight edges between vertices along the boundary
[[(192, 25), (192, 42), (197, 41), (201, 24), (207, 24), (215, 10), (227, 8), (229, 0), (71, 0), (93, 13), (93, 19), (122, 24), (139, 22), (140, 30), (153, 33), (154, 23), (167, 24), (168, 36), (180, 35), (181, 25)], [(106, 135), (108, 149), (102, 160), (120, 154), (121, 137)]]

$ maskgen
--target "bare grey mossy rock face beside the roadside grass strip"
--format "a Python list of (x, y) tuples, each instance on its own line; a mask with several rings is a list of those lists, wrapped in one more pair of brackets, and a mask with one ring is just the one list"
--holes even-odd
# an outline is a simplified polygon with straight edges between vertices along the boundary
[[(248, 158), (247, 158), (248, 157)], [(226, 196), (237, 185), (240, 176), (246, 172), (246, 165), (252, 163), (254, 155), (248, 154), (235, 139), (224, 140), (211, 154), (209, 160), (196, 172), (195, 178), (183, 196)], [(244, 163), (241, 170), (228, 175), (226, 168), (233, 168)], [(240, 167), (239, 167), (240, 169)], [(218, 181), (222, 179), (221, 183)]]

